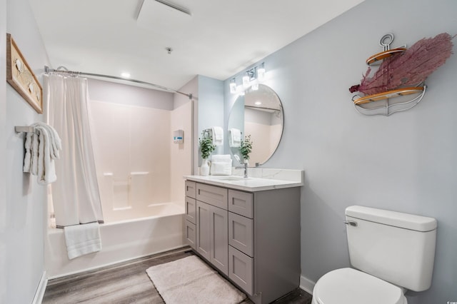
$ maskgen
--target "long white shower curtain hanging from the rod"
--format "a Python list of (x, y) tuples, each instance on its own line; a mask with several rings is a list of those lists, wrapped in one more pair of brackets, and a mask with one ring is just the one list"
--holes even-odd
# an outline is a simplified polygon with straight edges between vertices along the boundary
[(87, 79), (45, 77), (48, 120), (62, 140), (51, 186), (56, 226), (103, 223), (89, 123)]

